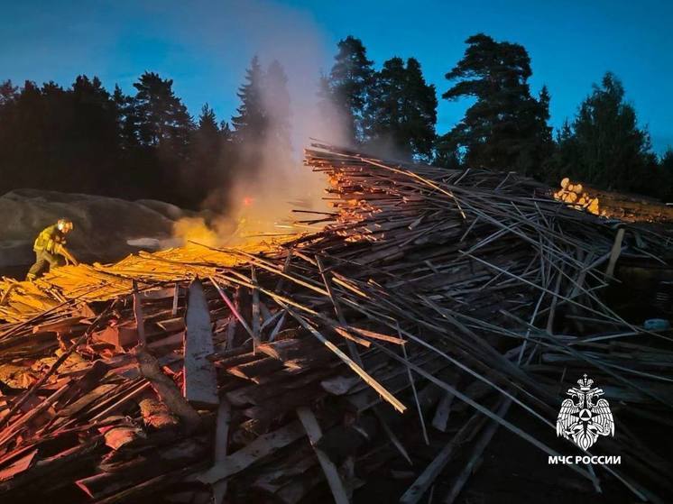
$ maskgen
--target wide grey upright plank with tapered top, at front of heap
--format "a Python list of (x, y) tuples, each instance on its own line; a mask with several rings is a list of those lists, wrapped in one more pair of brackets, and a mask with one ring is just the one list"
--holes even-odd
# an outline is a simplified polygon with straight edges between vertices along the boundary
[(215, 364), (207, 359), (214, 352), (210, 312), (199, 279), (189, 285), (185, 332), (185, 399), (198, 407), (214, 407), (217, 397)]

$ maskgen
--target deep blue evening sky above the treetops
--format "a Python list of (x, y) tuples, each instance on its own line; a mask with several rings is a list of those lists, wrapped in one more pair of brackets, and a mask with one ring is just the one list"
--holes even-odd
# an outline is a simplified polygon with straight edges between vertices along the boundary
[[(610, 70), (655, 151), (673, 146), (670, 0), (0, 0), (0, 13), (0, 80), (68, 87), (87, 74), (131, 93), (143, 71), (156, 71), (174, 80), (192, 115), (208, 103), (224, 120), (254, 54), (281, 60), (297, 109), (314, 99), (320, 71), (349, 34), (377, 68), (392, 56), (419, 60), (440, 96), (466, 38), (484, 32), (529, 51), (531, 89), (549, 87), (555, 127)], [(468, 105), (439, 98), (438, 133)]]

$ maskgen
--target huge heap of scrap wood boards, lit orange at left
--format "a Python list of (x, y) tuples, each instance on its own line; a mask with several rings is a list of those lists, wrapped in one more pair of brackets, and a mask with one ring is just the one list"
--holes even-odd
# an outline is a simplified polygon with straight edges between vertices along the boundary
[(538, 465), (585, 455), (556, 433), (585, 373), (616, 424), (588, 453), (622, 463), (559, 471), (671, 500), (671, 334), (601, 294), (667, 236), (514, 174), (305, 163), (330, 182), (333, 211), (298, 211), (316, 233), (0, 283), (0, 501), (341, 503), (394, 467), (394, 501), (453, 502), (498, 428)]

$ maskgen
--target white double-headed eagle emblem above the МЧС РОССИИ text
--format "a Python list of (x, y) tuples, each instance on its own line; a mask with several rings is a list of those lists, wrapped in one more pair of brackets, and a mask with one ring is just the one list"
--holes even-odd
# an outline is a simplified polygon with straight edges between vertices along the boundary
[[(579, 389), (567, 390), (570, 399), (561, 403), (556, 423), (557, 435), (571, 439), (583, 450), (588, 450), (599, 435), (614, 435), (613, 413), (602, 389), (593, 388), (594, 380), (586, 375), (577, 380)], [(597, 399), (597, 400), (596, 400)]]

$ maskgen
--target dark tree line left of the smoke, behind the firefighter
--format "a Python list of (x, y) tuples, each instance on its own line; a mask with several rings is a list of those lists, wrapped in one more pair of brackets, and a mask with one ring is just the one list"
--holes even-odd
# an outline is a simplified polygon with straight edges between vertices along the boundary
[(279, 139), (272, 142), (278, 159), (290, 156), (286, 84), (278, 61), (262, 69), (255, 58), (232, 128), (207, 104), (192, 118), (173, 81), (153, 72), (138, 78), (132, 95), (118, 86), (110, 93), (87, 76), (69, 88), (31, 81), (18, 88), (5, 81), (0, 194), (39, 188), (222, 210), (227, 186), (250, 175), (259, 161), (254, 153), (271, 134)]

